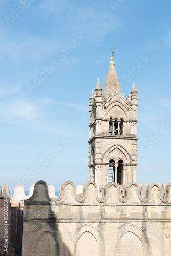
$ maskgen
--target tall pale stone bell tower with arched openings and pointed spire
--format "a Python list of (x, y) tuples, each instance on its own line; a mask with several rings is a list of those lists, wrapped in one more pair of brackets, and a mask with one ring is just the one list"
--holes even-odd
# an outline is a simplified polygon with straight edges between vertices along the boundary
[(137, 89), (121, 96), (111, 57), (103, 94), (99, 79), (95, 91), (89, 104), (89, 180), (99, 187), (136, 182)]

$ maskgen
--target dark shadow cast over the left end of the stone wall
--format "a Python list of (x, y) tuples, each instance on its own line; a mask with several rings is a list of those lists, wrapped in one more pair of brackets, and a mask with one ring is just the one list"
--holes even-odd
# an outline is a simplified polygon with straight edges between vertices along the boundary
[[(33, 196), (25, 200), (25, 210), (30, 212), (29, 216), (34, 215), (34, 220), (24, 216), (24, 222), (34, 222), (35, 229), (34, 232), (32, 231), (29, 234), (28, 227), (24, 228), (23, 238), (27, 237), (28, 241), (23, 241), (23, 254), (29, 253), (27, 254), (29, 256), (72, 256), (63, 242), (62, 234), (58, 230), (58, 219), (50, 201), (53, 201), (53, 199), (49, 198), (47, 184), (42, 181), (37, 182)], [(37, 206), (37, 214), (35, 210), (32, 211), (33, 205)], [(32, 241), (29, 241), (29, 239), (32, 239)], [(26, 248), (27, 242), (29, 242), (29, 247)]]

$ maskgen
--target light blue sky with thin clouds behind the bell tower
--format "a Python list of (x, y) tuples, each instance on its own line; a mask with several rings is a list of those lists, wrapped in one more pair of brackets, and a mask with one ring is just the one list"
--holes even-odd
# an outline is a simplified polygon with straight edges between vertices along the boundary
[[(138, 90), (137, 183), (171, 181), (171, 3), (1, 0), (1, 186), (88, 181), (89, 98), (114, 41)], [(143, 60), (143, 62), (141, 61)], [(56, 147), (56, 149), (54, 149)], [(52, 156), (53, 155), (53, 156)]]

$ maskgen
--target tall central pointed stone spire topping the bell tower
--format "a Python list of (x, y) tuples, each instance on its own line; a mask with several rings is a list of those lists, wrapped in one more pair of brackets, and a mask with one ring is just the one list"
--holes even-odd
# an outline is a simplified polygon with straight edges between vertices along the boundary
[(105, 81), (103, 96), (106, 98), (112, 98), (112, 96), (115, 93), (118, 93), (119, 95), (121, 95), (118, 78), (115, 70), (114, 58), (111, 57), (108, 75)]

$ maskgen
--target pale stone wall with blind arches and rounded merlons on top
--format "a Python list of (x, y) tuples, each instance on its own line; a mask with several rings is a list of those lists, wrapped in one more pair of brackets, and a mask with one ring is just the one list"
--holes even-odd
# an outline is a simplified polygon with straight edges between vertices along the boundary
[(39, 181), (24, 202), (22, 255), (171, 255), (171, 184), (164, 189), (131, 183), (123, 197), (111, 183), (101, 195), (88, 182), (77, 197), (74, 184), (65, 182), (52, 198)]

